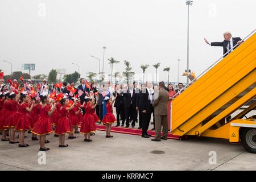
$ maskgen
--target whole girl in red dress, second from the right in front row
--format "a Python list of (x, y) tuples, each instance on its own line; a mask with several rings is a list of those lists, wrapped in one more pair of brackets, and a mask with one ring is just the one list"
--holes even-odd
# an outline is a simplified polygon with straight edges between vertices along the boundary
[(81, 128), (80, 128), (80, 133), (84, 134), (84, 142), (92, 142), (92, 139), (90, 139), (90, 133), (96, 131), (96, 119), (92, 114), (95, 107), (96, 107), (95, 101), (86, 96), (85, 97), (85, 115), (84, 115), (84, 119), (82, 119)]

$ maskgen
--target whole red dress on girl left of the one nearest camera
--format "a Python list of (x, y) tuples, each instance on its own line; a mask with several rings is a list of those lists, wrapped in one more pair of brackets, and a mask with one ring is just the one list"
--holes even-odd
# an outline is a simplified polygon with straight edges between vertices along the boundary
[(28, 104), (26, 102), (23, 102), (18, 106), (18, 120), (15, 124), (16, 131), (26, 131), (31, 129), (31, 116), (28, 114), (28, 111), (26, 110), (26, 107), (28, 107)]

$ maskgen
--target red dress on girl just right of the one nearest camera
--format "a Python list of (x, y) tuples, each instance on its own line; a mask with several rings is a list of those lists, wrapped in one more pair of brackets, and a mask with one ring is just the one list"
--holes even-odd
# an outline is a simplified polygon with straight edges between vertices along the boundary
[(56, 122), (55, 134), (63, 135), (65, 133), (71, 133), (71, 123), (68, 118), (67, 106), (63, 106), (60, 109), (60, 119)]

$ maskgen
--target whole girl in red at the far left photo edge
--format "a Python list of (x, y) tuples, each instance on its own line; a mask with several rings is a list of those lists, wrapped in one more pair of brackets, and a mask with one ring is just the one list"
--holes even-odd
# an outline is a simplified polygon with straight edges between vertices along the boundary
[(10, 113), (11, 113), (11, 102), (10, 102), (10, 93), (8, 91), (3, 93), (3, 96), (5, 96), (4, 101), (3, 101), (3, 106), (1, 109), (1, 113), (0, 113), (0, 130), (2, 130), (2, 141), (9, 141), (9, 138), (6, 138), (6, 134), (7, 134), (7, 127), (5, 127), (6, 125), (6, 119), (9, 117)]

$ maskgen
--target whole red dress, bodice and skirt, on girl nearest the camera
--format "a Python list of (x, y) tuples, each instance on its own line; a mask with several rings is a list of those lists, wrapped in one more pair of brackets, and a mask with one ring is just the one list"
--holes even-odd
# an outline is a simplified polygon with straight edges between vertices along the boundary
[(40, 117), (32, 129), (32, 133), (36, 135), (45, 135), (53, 132), (52, 119), (49, 117), (48, 111), (51, 111), (51, 105), (45, 105), (44, 108), (40, 110)]

